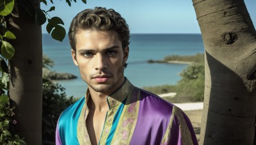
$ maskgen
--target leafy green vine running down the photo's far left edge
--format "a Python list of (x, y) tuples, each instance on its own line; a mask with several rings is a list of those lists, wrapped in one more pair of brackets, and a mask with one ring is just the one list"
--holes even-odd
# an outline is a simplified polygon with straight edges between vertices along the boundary
[(9, 92), (9, 70), (6, 61), (12, 59), (14, 48), (8, 42), (16, 39), (15, 35), (6, 27), (4, 16), (9, 15), (14, 6), (13, 0), (5, 0), (0, 3), (0, 142), (1, 144), (26, 144), (19, 135), (15, 134), (14, 127), (17, 121), (13, 119), (14, 107), (10, 104)]

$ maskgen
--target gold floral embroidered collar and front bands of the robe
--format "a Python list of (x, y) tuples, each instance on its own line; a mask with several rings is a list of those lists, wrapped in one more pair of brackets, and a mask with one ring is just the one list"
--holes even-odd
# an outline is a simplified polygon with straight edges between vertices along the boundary
[[(86, 102), (90, 92), (86, 92)], [(113, 136), (111, 144), (129, 144), (132, 134), (138, 118), (138, 107), (140, 99), (140, 90), (134, 87), (128, 79), (125, 80), (124, 85), (121, 86), (115, 93), (108, 98), (109, 111), (106, 116), (105, 124), (102, 130), (102, 136), (100, 137), (100, 144), (106, 144), (109, 132), (113, 125), (113, 118), (120, 104), (125, 100), (125, 106), (118, 121), (115, 134)], [(86, 117), (88, 116), (87, 104), (83, 106), (81, 115), (77, 125), (77, 137), (79, 144), (92, 144), (86, 128)], [(121, 141), (122, 140), (122, 141)]]

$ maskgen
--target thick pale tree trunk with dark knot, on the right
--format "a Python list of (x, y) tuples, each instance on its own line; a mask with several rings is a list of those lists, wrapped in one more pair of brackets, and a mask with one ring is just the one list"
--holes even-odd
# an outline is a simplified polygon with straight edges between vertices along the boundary
[(200, 144), (253, 144), (256, 32), (243, 0), (193, 0), (205, 47)]

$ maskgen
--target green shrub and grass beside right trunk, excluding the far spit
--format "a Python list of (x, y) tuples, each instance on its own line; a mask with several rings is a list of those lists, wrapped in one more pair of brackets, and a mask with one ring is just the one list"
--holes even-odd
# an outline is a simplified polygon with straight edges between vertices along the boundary
[(160, 94), (176, 92), (175, 97), (164, 97), (168, 102), (198, 102), (204, 100), (204, 64), (191, 64), (180, 72), (177, 85), (147, 86), (143, 89)]

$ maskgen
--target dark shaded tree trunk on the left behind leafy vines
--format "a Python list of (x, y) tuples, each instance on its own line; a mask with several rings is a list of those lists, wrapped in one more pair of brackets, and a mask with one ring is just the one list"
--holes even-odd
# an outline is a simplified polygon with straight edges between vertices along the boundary
[[(38, 7), (38, 0), (33, 4)], [(42, 31), (35, 18), (16, 6), (9, 19), (17, 38), (12, 41), (15, 55), (10, 60), (10, 97), (16, 105), (19, 135), (27, 144), (42, 144)]]

